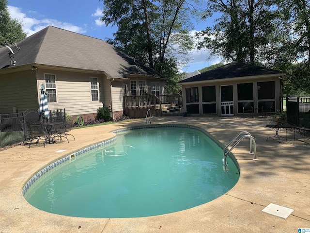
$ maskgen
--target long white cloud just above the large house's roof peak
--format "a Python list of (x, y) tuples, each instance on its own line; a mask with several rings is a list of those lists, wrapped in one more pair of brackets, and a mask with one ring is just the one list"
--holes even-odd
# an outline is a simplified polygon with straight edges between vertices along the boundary
[(25, 33), (27, 33), (27, 36), (30, 36), (46, 28), (49, 25), (75, 33), (86, 33), (86, 31), (83, 28), (73, 25), (71, 23), (61, 22), (52, 18), (36, 19), (33, 17), (32, 18), (27, 17), (27, 15), (23, 13), (22, 9), (19, 7), (8, 6), (8, 11), (11, 18), (18, 19), (19, 21), (21, 21), (23, 25), (22, 29)]

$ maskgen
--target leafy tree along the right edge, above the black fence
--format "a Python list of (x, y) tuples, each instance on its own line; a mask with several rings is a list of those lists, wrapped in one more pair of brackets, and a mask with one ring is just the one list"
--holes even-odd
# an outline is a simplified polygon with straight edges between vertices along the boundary
[(289, 31), (274, 68), (286, 71), (285, 94), (310, 94), (310, 2), (279, 0)]

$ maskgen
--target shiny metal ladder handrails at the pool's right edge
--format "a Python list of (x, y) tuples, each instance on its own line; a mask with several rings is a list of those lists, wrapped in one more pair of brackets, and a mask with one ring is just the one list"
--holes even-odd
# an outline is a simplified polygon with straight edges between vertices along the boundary
[[(244, 135), (242, 135), (242, 134), (244, 134)], [(240, 135), (242, 135), (242, 136), (239, 137)], [(243, 138), (249, 138), (250, 139), (250, 152), (249, 152), (249, 154), (253, 154), (253, 159), (252, 160), (258, 160), (256, 158), (256, 142), (255, 142), (254, 137), (250, 133), (248, 133), (247, 131), (242, 131), (242, 132), (238, 133), (233, 138), (233, 140), (223, 150), (223, 157), (224, 158), (223, 158), (222, 161), (223, 161), (223, 165), (225, 166), (225, 170), (227, 170), (227, 156), (228, 156), (228, 154), (240, 143), (240, 141)], [(232, 147), (229, 149), (230, 146), (232, 146)], [(225, 152), (226, 150), (228, 150), (228, 151)]]

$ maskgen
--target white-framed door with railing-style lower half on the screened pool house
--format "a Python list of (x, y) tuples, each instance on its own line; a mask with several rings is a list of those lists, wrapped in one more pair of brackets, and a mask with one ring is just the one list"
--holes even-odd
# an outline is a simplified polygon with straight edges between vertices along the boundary
[(221, 116), (233, 115), (233, 85), (221, 86)]

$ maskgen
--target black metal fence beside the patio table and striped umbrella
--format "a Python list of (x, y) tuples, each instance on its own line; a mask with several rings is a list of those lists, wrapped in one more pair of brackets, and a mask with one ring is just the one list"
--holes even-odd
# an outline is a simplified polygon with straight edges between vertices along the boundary
[[(0, 114), (0, 148), (4, 148), (19, 142), (23, 142), (26, 138), (25, 132), (25, 113)], [(57, 121), (57, 117), (63, 117), (65, 121), (65, 109), (49, 110), (49, 121)], [(64, 122), (65, 123), (65, 122)]]

